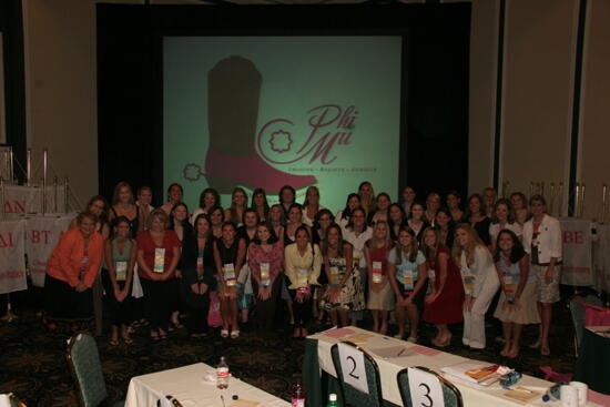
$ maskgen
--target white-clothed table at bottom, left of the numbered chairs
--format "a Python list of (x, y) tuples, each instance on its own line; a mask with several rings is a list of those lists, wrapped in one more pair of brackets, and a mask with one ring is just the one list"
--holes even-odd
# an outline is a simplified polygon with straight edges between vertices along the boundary
[[(156, 407), (161, 397), (172, 395), (183, 407), (287, 407), (289, 403), (270, 395), (254, 386), (232, 377), (227, 389), (218, 389), (215, 379), (216, 370), (203, 363), (156, 372), (132, 377), (125, 407)], [(224, 396), (224, 403), (221, 399)], [(238, 404), (232, 399), (237, 395)], [(257, 404), (247, 404), (255, 401)]]

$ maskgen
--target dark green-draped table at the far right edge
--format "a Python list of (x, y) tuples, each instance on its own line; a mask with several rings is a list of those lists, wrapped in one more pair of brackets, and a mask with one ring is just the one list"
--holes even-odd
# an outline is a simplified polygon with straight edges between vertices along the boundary
[(575, 380), (610, 395), (610, 326), (588, 326), (583, 329)]

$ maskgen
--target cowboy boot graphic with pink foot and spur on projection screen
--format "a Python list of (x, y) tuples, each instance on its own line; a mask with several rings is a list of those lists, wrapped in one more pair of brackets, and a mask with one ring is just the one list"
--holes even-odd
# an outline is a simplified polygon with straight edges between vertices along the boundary
[[(316, 182), (312, 175), (276, 170), (256, 152), (262, 77), (252, 61), (225, 58), (210, 70), (207, 79), (210, 146), (204, 174), (210, 186), (225, 194), (236, 185), (277, 193), (286, 184), (298, 190)], [(184, 167), (185, 179), (195, 181), (200, 175), (199, 165)]]

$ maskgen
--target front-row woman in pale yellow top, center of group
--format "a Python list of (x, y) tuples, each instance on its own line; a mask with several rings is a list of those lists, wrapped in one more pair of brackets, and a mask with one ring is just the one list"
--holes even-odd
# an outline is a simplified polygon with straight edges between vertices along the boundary
[(291, 285), (288, 293), (293, 299), (294, 337), (307, 336), (307, 324), (312, 319), (312, 298), (316, 285), (319, 285), (322, 252), (317, 244), (311, 243), (309, 230), (305, 225), (295, 232), (295, 243), (284, 250), (286, 276)]

